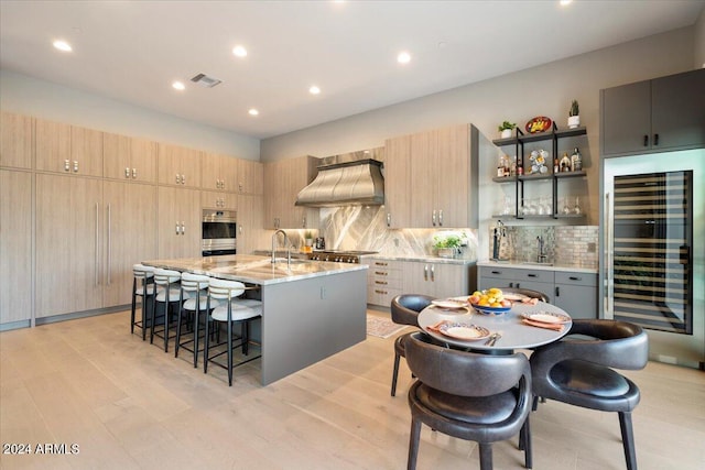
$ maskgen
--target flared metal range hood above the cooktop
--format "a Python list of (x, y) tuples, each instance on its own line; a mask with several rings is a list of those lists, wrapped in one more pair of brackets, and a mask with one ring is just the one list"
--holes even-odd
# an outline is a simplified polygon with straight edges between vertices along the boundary
[(318, 175), (296, 197), (296, 206), (380, 206), (384, 204), (383, 147), (323, 159)]

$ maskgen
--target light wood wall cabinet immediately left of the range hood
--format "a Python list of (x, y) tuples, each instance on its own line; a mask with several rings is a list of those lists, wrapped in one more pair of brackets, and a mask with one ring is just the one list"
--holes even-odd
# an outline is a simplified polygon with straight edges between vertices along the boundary
[(301, 156), (264, 164), (264, 226), (318, 229), (317, 208), (295, 205), (299, 192), (316, 177), (318, 159)]

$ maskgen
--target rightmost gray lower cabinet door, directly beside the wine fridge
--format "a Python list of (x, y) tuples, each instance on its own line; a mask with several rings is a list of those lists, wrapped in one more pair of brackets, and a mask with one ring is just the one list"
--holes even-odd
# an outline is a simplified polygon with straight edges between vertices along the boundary
[(597, 274), (556, 271), (554, 295), (573, 318), (597, 318)]

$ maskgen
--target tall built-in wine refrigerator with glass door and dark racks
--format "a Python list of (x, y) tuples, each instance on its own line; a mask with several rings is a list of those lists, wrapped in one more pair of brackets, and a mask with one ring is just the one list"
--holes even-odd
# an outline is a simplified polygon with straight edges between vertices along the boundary
[(705, 370), (705, 150), (605, 159), (603, 316), (638, 324), (650, 358)]

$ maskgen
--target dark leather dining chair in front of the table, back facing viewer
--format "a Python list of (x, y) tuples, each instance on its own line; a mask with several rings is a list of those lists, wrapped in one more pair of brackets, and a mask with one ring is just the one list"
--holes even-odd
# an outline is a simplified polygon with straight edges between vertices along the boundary
[(531, 468), (531, 369), (521, 353), (489, 356), (448, 349), (422, 331), (405, 345), (417, 378), (409, 390), (411, 436), (408, 469), (416, 468), (421, 425), (478, 442), (480, 469), (492, 468), (492, 442), (519, 434), (524, 466)]

